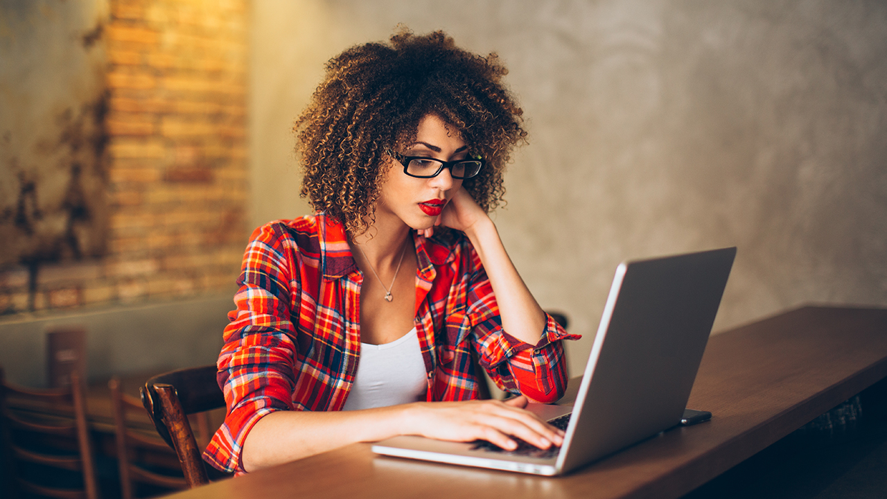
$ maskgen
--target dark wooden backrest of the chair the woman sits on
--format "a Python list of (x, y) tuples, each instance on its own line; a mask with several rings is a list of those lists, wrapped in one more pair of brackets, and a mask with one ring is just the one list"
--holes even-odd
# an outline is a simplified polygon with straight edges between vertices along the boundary
[(157, 432), (176, 450), (188, 486), (209, 483), (201, 449), (187, 416), (224, 407), (224, 394), (216, 381), (216, 365), (177, 369), (154, 376), (145, 383), (141, 393), (142, 403)]

